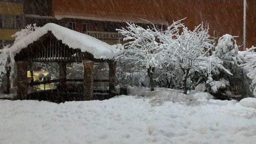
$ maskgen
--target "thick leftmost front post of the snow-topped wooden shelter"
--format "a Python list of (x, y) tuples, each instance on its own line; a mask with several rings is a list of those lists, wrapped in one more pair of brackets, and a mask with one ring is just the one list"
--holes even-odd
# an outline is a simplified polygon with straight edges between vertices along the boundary
[(17, 98), (19, 100), (26, 99), (28, 94), (28, 62), (18, 61), (17, 65)]

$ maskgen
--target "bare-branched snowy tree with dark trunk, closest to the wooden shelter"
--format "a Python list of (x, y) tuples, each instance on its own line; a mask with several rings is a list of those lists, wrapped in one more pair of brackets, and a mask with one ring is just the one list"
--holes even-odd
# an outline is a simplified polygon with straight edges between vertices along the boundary
[(157, 42), (156, 33), (152, 28), (142, 28), (128, 23), (126, 28), (116, 29), (128, 42), (118, 53), (116, 60), (134, 64), (136, 68), (146, 68), (150, 78), (150, 89), (154, 90), (153, 74), (156, 68), (161, 68), (162, 48)]

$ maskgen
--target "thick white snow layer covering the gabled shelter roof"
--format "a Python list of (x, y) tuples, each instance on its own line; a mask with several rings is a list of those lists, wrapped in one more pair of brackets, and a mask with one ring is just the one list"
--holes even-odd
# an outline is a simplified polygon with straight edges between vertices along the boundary
[(58, 40), (62, 40), (63, 44), (73, 49), (80, 49), (82, 52), (88, 52), (96, 59), (112, 59), (115, 52), (118, 51), (119, 45), (109, 45), (92, 36), (70, 30), (58, 24), (48, 23), (16, 42), (10, 48), (10, 53), (12, 56), (15, 56), (20, 50), (26, 48), (29, 44), (37, 41), (41, 36), (50, 31)]

